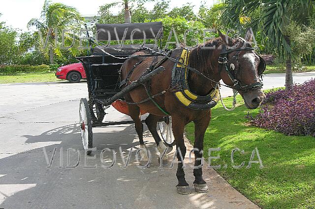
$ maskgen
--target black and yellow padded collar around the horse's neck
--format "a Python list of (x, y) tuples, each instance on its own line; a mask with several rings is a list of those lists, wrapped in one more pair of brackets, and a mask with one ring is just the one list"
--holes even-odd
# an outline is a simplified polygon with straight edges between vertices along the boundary
[(199, 96), (192, 93), (189, 89), (189, 50), (183, 48), (181, 56), (176, 60), (172, 70), (172, 91), (175, 97), (185, 106), (196, 109), (210, 109), (219, 101), (219, 85), (215, 87), (206, 96)]

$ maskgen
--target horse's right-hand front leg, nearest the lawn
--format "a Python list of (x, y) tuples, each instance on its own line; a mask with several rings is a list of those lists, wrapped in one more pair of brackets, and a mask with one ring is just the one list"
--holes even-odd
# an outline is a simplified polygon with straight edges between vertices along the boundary
[(203, 139), (205, 132), (208, 128), (211, 119), (211, 110), (206, 111), (205, 114), (199, 114), (200, 117), (194, 121), (195, 123), (195, 141), (193, 144), (195, 163), (193, 169), (193, 175), (195, 180), (193, 181), (193, 186), (196, 192), (208, 192), (209, 188), (206, 181), (202, 178), (202, 154), (203, 154)]

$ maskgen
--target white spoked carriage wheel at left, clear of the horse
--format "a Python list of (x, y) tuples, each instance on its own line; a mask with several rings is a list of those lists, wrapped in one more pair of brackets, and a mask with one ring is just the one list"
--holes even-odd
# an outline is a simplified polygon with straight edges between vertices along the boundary
[(81, 98), (80, 101), (80, 131), (81, 139), (83, 143), (84, 150), (87, 154), (91, 154), (92, 151), (88, 151), (88, 148), (93, 147), (93, 133), (92, 133), (92, 119), (89, 104), (87, 99)]

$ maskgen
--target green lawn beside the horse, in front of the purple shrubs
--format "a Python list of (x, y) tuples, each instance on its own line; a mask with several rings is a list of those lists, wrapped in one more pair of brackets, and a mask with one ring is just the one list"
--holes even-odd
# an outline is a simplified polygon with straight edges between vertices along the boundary
[[(231, 106), (232, 98), (224, 99)], [(263, 209), (314, 209), (315, 207), (315, 138), (285, 136), (275, 131), (268, 131), (251, 126), (244, 118), (248, 112), (255, 115), (258, 110), (248, 110), (241, 97), (234, 111), (228, 112), (218, 104), (212, 109), (212, 120), (206, 131), (204, 150), (221, 147), (220, 159), (212, 165), (221, 164), (216, 171), (235, 189)], [(186, 127), (189, 140), (193, 143), (194, 125)], [(233, 169), (231, 151), (240, 148), (234, 154), (235, 165), (245, 161), (241, 169)], [(246, 166), (255, 147), (264, 168), (259, 164)], [(208, 159), (205, 151), (205, 159)], [(254, 160), (257, 160), (255, 155)], [(224, 165), (227, 168), (224, 169)]]

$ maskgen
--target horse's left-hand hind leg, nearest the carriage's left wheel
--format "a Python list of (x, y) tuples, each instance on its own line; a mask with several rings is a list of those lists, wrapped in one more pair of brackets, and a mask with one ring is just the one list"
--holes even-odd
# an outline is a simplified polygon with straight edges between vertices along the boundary
[(141, 156), (140, 161), (149, 161), (146, 147), (143, 141), (143, 124), (140, 118), (140, 108), (136, 105), (128, 105), (128, 109), (129, 109), (129, 116), (134, 121), (134, 127), (139, 137), (139, 143), (140, 143), (140, 148), (141, 148), (139, 152)]

